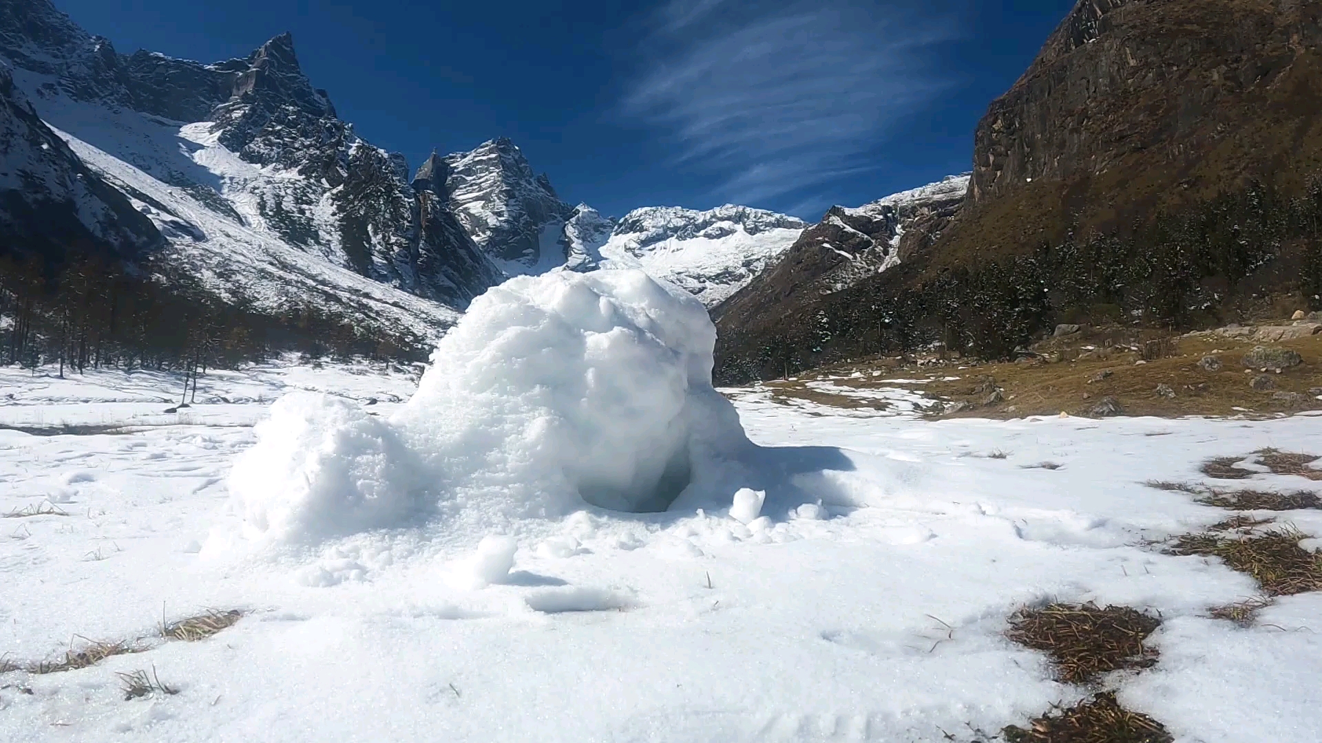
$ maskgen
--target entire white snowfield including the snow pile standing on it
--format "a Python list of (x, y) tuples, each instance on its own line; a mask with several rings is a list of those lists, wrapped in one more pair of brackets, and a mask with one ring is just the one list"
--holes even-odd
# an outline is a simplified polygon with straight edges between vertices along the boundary
[[(1003, 637), (1047, 600), (1161, 613), (1108, 685), (1177, 740), (1317, 739), (1322, 598), (1210, 619), (1256, 586), (1151, 541), (1227, 512), (1142, 484), (1319, 452), (1315, 416), (845, 415), (718, 395), (711, 341), (640, 272), (558, 272), (475, 301), (416, 387), (283, 361), (167, 414), (165, 374), (3, 370), (0, 514), (48, 513), (0, 520), (0, 656), (140, 652), (0, 674), (0, 739), (985, 740), (1085, 694)], [(206, 609), (245, 616), (160, 637)], [(140, 669), (176, 693), (126, 699)]]

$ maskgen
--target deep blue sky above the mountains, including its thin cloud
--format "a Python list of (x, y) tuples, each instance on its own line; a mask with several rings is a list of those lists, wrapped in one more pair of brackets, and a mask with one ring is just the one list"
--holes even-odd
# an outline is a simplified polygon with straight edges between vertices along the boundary
[(816, 219), (968, 171), (973, 127), (1073, 0), (56, 0), (122, 53), (290, 30), (369, 141), (512, 137), (566, 201)]

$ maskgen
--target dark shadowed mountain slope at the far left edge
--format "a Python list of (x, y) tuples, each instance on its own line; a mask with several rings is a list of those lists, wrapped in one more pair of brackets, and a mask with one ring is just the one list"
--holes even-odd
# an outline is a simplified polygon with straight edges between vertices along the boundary
[(0, 65), (0, 254), (136, 258), (161, 235), (37, 116)]

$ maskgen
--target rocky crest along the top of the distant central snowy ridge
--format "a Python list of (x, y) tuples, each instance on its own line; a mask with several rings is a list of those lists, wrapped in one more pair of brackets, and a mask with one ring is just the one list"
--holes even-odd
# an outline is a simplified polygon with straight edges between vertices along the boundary
[(625, 214), (615, 226), (615, 234), (637, 235), (633, 247), (644, 249), (666, 239), (719, 239), (739, 231), (756, 235), (768, 230), (802, 230), (806, 226), (797, 217), (734, 204), (707, 210), (646, 206)]

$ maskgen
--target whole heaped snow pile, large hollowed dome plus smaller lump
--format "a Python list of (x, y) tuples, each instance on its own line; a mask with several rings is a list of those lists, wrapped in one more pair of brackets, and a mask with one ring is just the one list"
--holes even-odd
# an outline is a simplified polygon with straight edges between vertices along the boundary
[(280, 401), (229, 487), (250, 535), (319, 541), (463, 513), (728, 506), (752, 450), (711, 387), (702, 304), (642, 271), (520, 276), (477, 297), (389, 420)]

